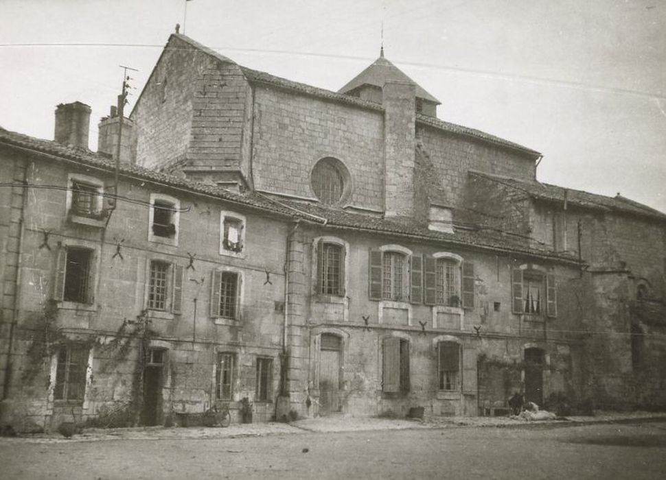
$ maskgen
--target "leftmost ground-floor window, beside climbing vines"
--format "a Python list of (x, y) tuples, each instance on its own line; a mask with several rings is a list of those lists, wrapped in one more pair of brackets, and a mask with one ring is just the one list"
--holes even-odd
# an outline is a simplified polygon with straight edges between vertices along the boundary
[(56, 361), (54, 400), (83, 400), (88, 351), (80, 346), (62, 347)]

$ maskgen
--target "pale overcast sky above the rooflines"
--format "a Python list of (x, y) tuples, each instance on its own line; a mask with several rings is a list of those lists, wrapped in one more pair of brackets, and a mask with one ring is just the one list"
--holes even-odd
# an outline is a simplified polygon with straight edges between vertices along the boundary
[[(186, 8), (185, 8), (186, 7)], [(185, 16), (186, 10), (186, 16)], [(337, 91), (386, 57), (440, 119), (544, 155), (537, 178), (666, 212), (663, 0), (0, 0), (0, 126), (53, 139), (57, 104), (130, 106), (174, 32)]]

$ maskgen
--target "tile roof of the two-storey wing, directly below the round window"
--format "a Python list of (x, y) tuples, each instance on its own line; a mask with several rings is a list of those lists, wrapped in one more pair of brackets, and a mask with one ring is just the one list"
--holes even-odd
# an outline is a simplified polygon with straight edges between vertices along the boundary
[(385, 219), (378, 216), (345, 211), (342, 208), (297, 202), (293, 200), (282, 200), (281, 203), (294, 208), (296, 211), (326, 219), (325, 225), (330, 228), (364, 230), (366, 232), (378, 232), (384, 235), (396, 235), (411, 237), (412, 239), (436, 241), (448, 245), (457, 245), (461, 248), (467, 247), (481, 250), (492, 250), (494, 252), (524, 254), (526, 256), (536, 256), (539, 258), (551, 259), (553, 261), (578, 263), (577, 258), (572, 254), (553, 252), (550, 248), (530, 248), (525, 245), (524, 238), (509, 233), (497, 232), (496, 230), (457, 229), (455, 233), (437, 232), (434, 230), (428, 230), (426, 225), (409, 218)]

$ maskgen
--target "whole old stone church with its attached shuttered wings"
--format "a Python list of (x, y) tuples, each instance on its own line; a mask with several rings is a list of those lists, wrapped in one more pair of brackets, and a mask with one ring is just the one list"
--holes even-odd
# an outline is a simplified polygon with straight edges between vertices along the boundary
[(0, 130), (3, 422), (666, 407), (666, 215), (438, 105), (383, 51), (332, 92), (176, 33), (119, 148), (78, 102)]

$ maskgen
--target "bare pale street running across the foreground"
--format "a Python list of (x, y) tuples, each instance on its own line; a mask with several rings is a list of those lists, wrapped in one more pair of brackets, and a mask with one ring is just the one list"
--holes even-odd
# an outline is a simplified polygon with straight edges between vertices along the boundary
[(666, 423), (2, 439), (0, 464), (3, 479), (661, 479)]

